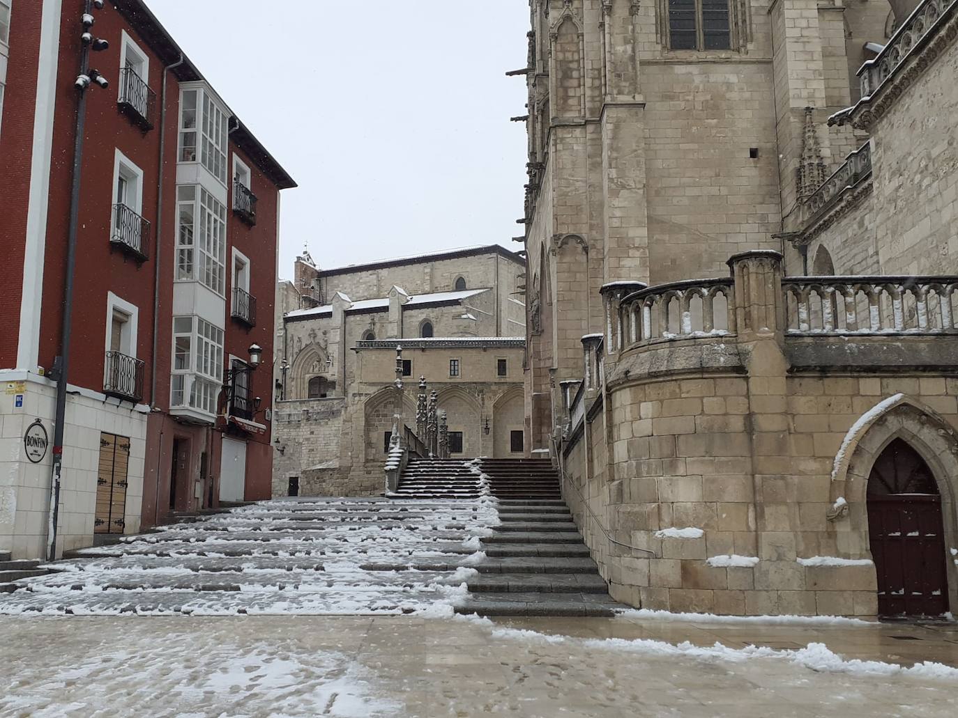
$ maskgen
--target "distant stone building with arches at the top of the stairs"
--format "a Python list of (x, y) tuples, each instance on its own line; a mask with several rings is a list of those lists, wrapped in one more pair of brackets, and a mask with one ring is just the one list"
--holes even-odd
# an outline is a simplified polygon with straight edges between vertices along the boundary
[(417, 394), (435, 393), (451, 458), (526, 456), (524, 275), (497, 245), (332, 269), (297, 258), (278, 287), (273, 495), (381, 494), (394, 433), (425, 439)]

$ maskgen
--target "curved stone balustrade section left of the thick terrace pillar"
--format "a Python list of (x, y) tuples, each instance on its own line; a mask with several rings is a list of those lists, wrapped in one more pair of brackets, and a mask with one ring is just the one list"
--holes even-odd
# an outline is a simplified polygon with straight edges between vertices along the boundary
[(735, 333), (731, 278), (673, 281), (627, 295), (623, 346)]

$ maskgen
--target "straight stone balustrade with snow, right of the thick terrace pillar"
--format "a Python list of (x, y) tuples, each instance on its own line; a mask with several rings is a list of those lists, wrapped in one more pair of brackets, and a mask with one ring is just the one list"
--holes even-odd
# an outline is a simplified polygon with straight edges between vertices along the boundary
[(788, 334), (945, 334), (958, 277), (796, 277), (782, 281)]

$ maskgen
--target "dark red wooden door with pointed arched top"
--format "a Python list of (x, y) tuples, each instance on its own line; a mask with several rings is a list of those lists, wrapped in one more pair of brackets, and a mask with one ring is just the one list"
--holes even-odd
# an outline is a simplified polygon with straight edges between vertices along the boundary
[(942, 497), (924, 459), (901, 438), (868, 478), (868, 533), (879, 616), (941, 616), (948, 610)]

